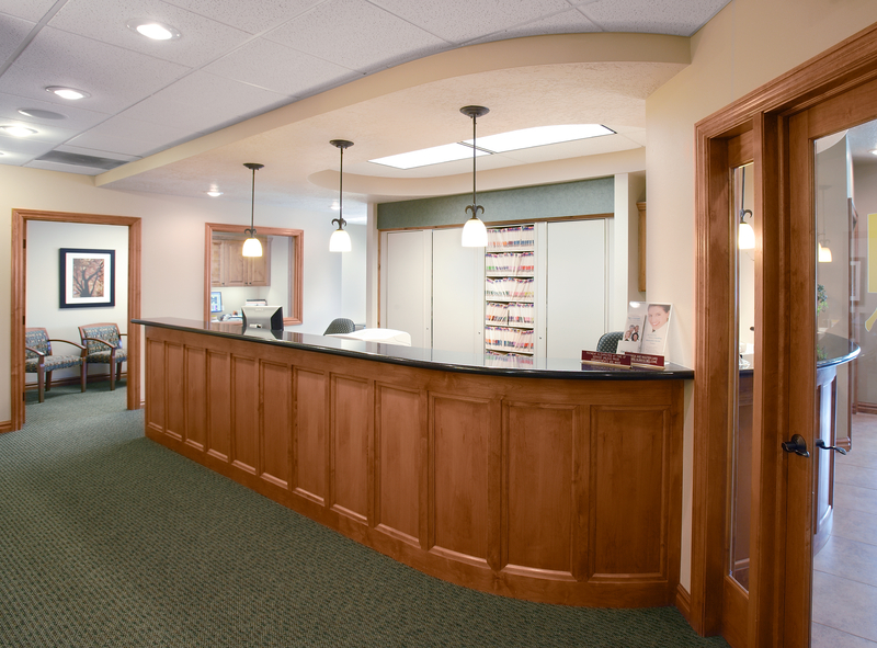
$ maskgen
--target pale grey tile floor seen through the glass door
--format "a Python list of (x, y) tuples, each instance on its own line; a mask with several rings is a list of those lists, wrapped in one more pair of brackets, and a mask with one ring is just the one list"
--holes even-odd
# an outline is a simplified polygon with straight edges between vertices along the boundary
[(877, 416), (853, 417), (834, 468), (834, 526), (813, 560), (813, 648), (877, 648)]

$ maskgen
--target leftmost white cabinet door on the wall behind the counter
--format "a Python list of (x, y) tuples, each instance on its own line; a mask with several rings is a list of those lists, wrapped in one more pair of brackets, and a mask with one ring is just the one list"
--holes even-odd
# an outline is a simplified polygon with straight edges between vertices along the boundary
[(381, 327), (411, 336), (411, 346), (429, 349), (432, 232), (387, 234), (386, 317)]

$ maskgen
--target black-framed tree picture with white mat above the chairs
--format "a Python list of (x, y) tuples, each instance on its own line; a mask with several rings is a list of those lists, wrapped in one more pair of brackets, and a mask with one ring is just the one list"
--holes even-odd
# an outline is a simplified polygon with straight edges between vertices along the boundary
[(116, 305), (116, 251), (60, 249), (60, 307)]

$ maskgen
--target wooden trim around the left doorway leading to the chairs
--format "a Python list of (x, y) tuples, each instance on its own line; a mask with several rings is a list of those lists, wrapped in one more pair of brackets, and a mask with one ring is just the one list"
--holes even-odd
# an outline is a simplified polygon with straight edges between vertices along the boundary
[(11, 430), (24, 424), (24, 315), (26, 305), (26, 277), (24, 245), (29, 220), (55, 223), (83, 223), (90, 225), (117, 225), (128, 228), (128, 377), (127, 409), (140, 407), (140, 327), (132, 319), (140, 317), (140, 218), (133, 216), (104, 216), (100, 214), (70, 214), (66, 212), (12, 211), (12, 326), (11, 328)]

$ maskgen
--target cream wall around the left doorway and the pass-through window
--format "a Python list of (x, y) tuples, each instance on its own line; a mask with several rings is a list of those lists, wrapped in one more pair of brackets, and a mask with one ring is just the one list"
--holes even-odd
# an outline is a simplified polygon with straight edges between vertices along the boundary
[[(143, 218), (144, 317), (202, 319), (204, 224), (248, 224), (250, 205), (221, 198), (98, 189), (86, 175), (0, 166), (0, 421), (10, 419), (10, 217), (12, 209), (110, 214)], [(255, 226), (305, 230), (304, 323), (322, 333), (341, 307), (341, 254), (329, 252), (331, 216), (287, 207), (257, 206)], [(56, 257), (46, 263), (57, 264)], [(56, 269), (57, 272), (57, 269)]]

